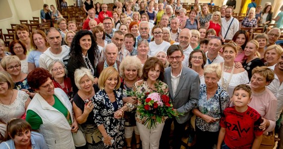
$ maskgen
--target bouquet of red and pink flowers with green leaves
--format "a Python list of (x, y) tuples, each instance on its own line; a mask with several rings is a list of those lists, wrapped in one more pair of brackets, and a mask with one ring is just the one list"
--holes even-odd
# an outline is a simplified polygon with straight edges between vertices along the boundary
[(141, 118), (145, 118), (144, 125), (147, 129), (156, 127), (156, 123), (162, 123), (162, 117), (178, 117), (179, 112), (174, 111), (173, 104), (169, 97), (165, 94), (157, 92), (146, 92), (145, 94), (136, 96), (141, 100), (141, 105), (138, 106), (137, 111), (141, 113)]

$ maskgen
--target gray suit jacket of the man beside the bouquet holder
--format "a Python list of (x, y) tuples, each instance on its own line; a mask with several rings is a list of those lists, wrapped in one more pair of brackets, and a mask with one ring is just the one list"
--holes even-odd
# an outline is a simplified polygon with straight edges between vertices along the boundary
[(164, 82), (169, 87), (169, 97), (172, 100), (174, 109), (183, 113), (183, 116), (176, 118), (179, 124), (187, 122), (192, 116), (191, 112), (199, 101), (200, 96), (200, 77), (199, 74), (190, 68), (183, 67), (180, 80), (173, 96), (173, 89), (171, 84), (171, 67), (165, 69)]

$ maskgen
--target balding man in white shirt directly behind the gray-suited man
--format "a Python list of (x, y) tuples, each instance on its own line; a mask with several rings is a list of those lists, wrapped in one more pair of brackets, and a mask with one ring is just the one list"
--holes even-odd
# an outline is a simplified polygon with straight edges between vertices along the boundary
[(174, 45), (180, 45), (183, 49), (184, 53), (184, 60), (182, 62), (183, 66), (188, 67), (189, 66), (189, 58), (190, 54), (193, 50), (193, 48), (190, 45), (190, 40), (192, 37), (192, 32), (188, 28), (184, 28), (181, 30), (179, 34), (179, 43), (174, 43)]

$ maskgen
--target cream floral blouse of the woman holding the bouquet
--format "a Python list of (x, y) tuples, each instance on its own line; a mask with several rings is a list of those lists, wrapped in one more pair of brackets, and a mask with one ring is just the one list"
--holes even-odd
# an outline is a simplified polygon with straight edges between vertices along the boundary
[[(169, 96), (169, 89), (168, 89), (168, 86), (166, 83), (160, 81), (160, 80), (156, 80), (156, 83), (155, 83), (155, 87), (157, 88), (157, 91), (158, 90), (162, 90), (162, 93), (165, 94), (165, 95), (168, 95)], [(156, 90), (152, 90), (151, 88), (148, 87), (147, 85), (147, 82), (145, 80), (140, 80), (140, 81), (137, 81), (135, 83), (135, 85), (133, 86), (133, 91), (135, 91), (137, 94), (145, 94), (146, 92), (157, 92)], [(158, 92), (158, 93), (161, 93), (161, 92)], [(141, 103), (141, 99), (138, 98), (138, 105), (133, 105), (131, 103), (126, 103), (126, 105), (128, 106), (128, 109), (129, 111), (132, 111), (135, 107), (141, 105), (143, 103)], [(137, 109), (139, 110), (139, 109)], [(140, 112), (136, 112), (136, 121), (141, 123), (141, 124), (144, 124), (145, 122), (145, 118), (146, 117), (143, 117), (141, 118), (141, 113)], [(167, 119), (167, 117), (162, 117), (162, 122), (165, 122), (165, 120)]]

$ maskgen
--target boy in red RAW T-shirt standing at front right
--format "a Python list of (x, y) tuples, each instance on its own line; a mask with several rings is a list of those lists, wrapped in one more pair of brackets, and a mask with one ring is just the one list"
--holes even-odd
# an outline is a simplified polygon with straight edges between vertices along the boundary
[(220, 121), (217, 149), (258, 149), (263, 130), (261, 115), (248, 106), (251, 88), (240, 84), (235, 87), (232, 102), (235, 106), (226, 108)]

